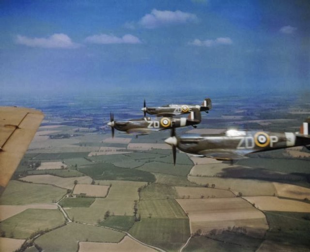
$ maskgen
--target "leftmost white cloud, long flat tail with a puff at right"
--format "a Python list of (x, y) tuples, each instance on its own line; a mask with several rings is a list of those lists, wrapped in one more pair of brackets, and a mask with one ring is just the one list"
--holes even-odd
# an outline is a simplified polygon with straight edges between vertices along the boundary
[(48, 38), (28, 38), (17, 35), (16, 43), (28, 47), (43, 48), (77, 48), (80, 45), (73, 43), (70, 37), (63, 33), (55, 33)]

